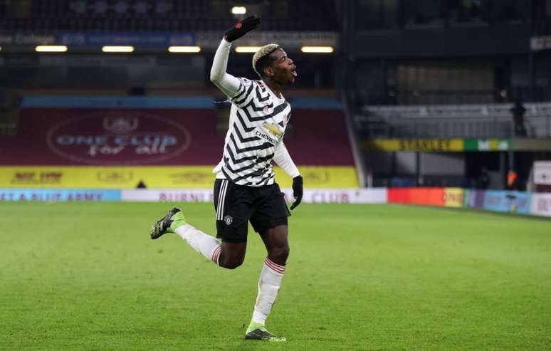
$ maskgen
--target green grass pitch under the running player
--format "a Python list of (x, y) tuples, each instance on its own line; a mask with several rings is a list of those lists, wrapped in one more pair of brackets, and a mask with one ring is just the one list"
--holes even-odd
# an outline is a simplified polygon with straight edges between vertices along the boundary
[[(235, 271), (149, 226), (172, 204), (1, 203), (0, 350), (551, 350), (551, 221), (302, 204), (268, 328), (265, 251)], [(211, 204), (180, 204), (214, 233)]]

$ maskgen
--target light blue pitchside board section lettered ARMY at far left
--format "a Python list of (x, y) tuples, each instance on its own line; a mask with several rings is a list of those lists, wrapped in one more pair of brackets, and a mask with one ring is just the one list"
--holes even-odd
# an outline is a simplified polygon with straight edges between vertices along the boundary
[(0, 201), (120, 201), (120, 190), (0, 189)]

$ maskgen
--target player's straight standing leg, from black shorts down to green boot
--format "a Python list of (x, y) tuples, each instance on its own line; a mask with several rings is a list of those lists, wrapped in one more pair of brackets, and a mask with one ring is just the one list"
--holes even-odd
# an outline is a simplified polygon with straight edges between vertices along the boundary
[(253, 318), (247, 328), (247, 339), (285, 341), (266, 330), (266, 318), (278, 296), (281, 281), (285, 274), (285, 263), (289, 256), (287, 216), (289, 211), (277, 184), (264, 189), (263, 199), (256, 214), (251, 218), (255, 231), (261, 235), (268, 256), (264, 260), (261, 276), (258, 279), (258, 295), (253, 310)]

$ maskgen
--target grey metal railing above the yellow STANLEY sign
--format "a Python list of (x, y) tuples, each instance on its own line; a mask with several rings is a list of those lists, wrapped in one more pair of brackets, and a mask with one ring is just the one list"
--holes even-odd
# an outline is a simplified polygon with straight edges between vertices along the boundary
[(361, 137), (551, 137), (551, 103), (526, 104), (526, 135), (515, 133), (512, 104), (368, 106), (354, 118)]

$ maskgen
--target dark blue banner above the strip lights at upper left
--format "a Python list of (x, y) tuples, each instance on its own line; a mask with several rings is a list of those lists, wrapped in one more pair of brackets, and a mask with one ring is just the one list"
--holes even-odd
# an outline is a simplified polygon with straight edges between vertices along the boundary
[(59, 31), (56, 42), (67, 46), (194, 46), (193, 32)]

